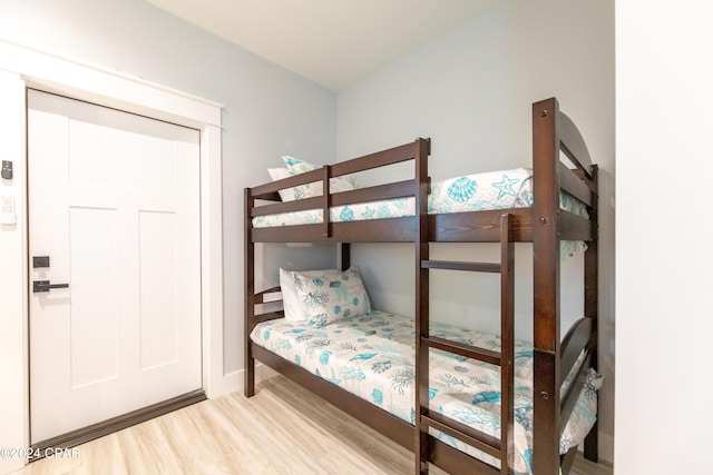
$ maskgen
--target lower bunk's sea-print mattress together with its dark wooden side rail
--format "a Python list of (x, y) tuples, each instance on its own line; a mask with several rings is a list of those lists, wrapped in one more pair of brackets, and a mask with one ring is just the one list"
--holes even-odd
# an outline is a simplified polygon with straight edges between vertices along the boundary
[[(389, 313), (346, 316), (323, 326), (271, 319), (251, 333), (253, 357), (296, 379), (328, 402), (356, 416), (412, 449), (414, 443), (414, 323)], [(431, 334), (485, 349), (499, 350), (499, 337), (431, 323)], [(583, 367), (563, 385), (575, 384)], [(584, 369), (584, 386), (560, 437), (560, 454), (579, 445), (596, 420), (600, 377)], [(498, 367), (432, 350), (429, 405), (432, 410), (475, 427), (495, 439), (500, 434), (500, 370)], [(531, 473), (533, 348), (515, 348), (515, 449), (511, 466)], [(500, 463), (452, 437), (432, 433), (431, 461), (460, 473), (498, 473)], [(468, 454), (468, 455), (466, 455)], [(472, 458), (475, 457), (475, 459)], [(477, 462), (479, 461), (479, 462)]]

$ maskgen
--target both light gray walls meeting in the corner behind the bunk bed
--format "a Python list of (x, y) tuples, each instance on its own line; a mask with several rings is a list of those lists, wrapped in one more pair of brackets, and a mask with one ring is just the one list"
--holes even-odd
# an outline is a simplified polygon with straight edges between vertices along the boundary
[[(225, 372), (242, 364), (243, 188), (268, 179), (285, 154), (333, 162), (431, 137), (431, 176), (530, 164), (529, 105), (556, 96), (582, 128), (602, 170), (600, 431), (613, 434), (614, 340), (614, 2), (504, 0), (463, 27), (335, 95), (140, 0), (0, 0), (0, 38), (117, 69), (225, 106), (223, 113)], [(309, 120), (305, 120), (309, 118)], [(442, 257), (471, 247), (439, 247)], [(272, 263), (326, 267), (331, 251), (307, 256), (272, 246)], [(518, 315), (528, 328), (531, 264), (518, 246)], [(438, 255), (438, 254), (437, 254)], [(364, 245), (378, 306), (412, 314), (412, 250)], [(307, 259), (315, 258), (310, 261)], [(387, 266), (382, 263), (389, 263)], [(310, 264), (306, 264), (310, 263)], [(401, 266), (394, 263), (402, 263)], [(575, 278), (576, 260), (565, 269)], [(399, 268), (398, 278), (389, 273)], [(265, 266), (263, 284), (277, 284)], [(406, 271), (407, 278), (403, 278)], [(261, 276), (262, 277), (262, 276)], [(478, 308), (459, 295), (477, 288)], [(437, 279), (436, 305), (450, 315), (496, 311), (492, 283)], [(472, 294), (470, 294), (472, 295)], [(578, 296), (567, 300), (576, 301)], [(482, 304), (481, 304), (482, 301)], [(527, 331), (527, 330), (526, 330)]]

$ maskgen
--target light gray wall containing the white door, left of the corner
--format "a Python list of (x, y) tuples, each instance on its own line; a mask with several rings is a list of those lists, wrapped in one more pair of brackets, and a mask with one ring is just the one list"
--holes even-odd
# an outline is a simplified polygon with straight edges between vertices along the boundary
[[(119, 70), (225, 106), (223, 112), (224, 372), (243, 368), (243, 188), (292, 154), (333, 161), (333, 91), (141, 0), (0, 0), (0, 39)], [(309, 120), (305, 120), (309, 118)], [(272, 258), (282, 260), (284, 247)], [(325, 253), (284, 257), (332, 265)], [(274, 268), (274, 270), (273, 270)], [(268, 283), (277, 284), (271, 266)]]

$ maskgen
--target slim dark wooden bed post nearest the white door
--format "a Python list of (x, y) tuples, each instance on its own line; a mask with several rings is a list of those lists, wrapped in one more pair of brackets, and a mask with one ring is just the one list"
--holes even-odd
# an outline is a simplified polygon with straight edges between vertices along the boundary
[(251, 212), (255, 206), (255, 198), (250, 188), (245, 188), (245, 315), (244, 315), (244, 335), (243, 344), (245, 345), (245, 397), (255, 395), (255, 358), (251, 347), (250, 333), (255, 325), (255, 244), (252, 236), (252, 217)]

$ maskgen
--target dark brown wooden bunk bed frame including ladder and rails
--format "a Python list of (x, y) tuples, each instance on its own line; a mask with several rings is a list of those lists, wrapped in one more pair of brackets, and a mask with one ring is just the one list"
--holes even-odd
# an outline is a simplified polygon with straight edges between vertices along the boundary
[[(560, 151), (574, 165), (560, 161)], [(530, 208), (428, 215), (428, 156), (430, 140), (417, 139), (392, 149), (324, 166), (319, 170), (245, 189), (245, 395), (255, 394), (255, 360), (295, 380), (326, 402), (362, 420), (416, 454), (416, 473), (428, 473), (428, 463), (449, 473), (509, 473), (512, 451), (514, 360), (514, 243), (533, 243), (534, 255), (534, 434), (535, 474), (567, 473), (576, 449), (559, 454), (559, 438), (583, 386), (586, 369), (597, 368), (597, 166), (574, 122), (559, 111), (556, 98), (533, 105), (533, 194)], [(329, 194), (329, 179), (407, 160), (414, 161), (416, 178), (353, 191)], [(256, 200), (281, 201), (277, 191), (322, 181), (323, 195), (297, 201), (256, 206)], [(567, 191), (587, 205), (589, 219), (560, 209), (559, 192)], [(368, 221), (330, 222), (332, 206), (412, 196), (416, 216)], [(322, 208), (324, 221), (315, 225), (254, 228), (252, 218), (277, 212)], [(584, 317), (560, 338), (560, 240), (584, 240)], [(429, 259), (429, 243), (500, 243), (501, 263), (459, 263)], [(341, 266), (350, 266), (350, 243), (416, 244), (416, 426), (384, 412), (310, 372), (264, 349), (250, 339), (255, 325), (283, 317), (263, 311), (265, 296), (279, 287), (255, 291), (256, 243), (334, 243), (341, 246)], [(499, 354), (430, 337), (429, 270), (453, 269), (500, 273), (501, 352)], [(445, 349), (501, 367), (501, 438), (497, 439), (443, 418), (428, 408), (428, 348)], [(577, 356), (587, 352), (578, 384), (561, 395), (564, 378)], [(506, 423), (507, 420), (507, 423)], [(498, 469), (429, 436), (433, 427), (500, 459)], [(585, 457), (597, 459), (597, 425), (585, 438)]]

